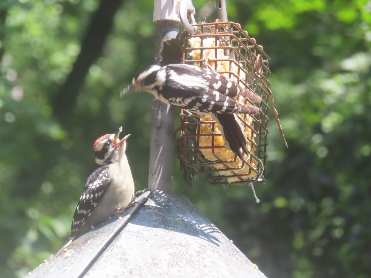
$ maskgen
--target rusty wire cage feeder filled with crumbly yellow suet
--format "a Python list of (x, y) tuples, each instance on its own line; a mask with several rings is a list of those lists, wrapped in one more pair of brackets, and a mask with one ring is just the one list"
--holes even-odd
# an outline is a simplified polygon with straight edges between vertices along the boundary
[[(208, 67), (262, 97), (255, 115), (237, 114), (247, 135), (244, 160), (224, 145), (217, 123), (210, 116), (189, 115), (182, 110), (177, 131), (179, 156), (186, 166), (206, 176), (211, 184), (265, 182), (269, 60), (263, 47), (233, 22), (195, 24), (196, 34), (185, 32), (183, 63)], [(252, 104), (243, 96), (239, 102)]]

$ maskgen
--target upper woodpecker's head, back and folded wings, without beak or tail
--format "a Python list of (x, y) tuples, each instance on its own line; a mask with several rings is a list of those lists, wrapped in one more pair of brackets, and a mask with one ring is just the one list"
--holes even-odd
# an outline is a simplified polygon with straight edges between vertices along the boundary
[(196, 113), (256, 114), (257, 106), (242, 104), (236, 99), (241, 95), (252, 102), (261, 102), (260, 96), (226, 76), (188, 64), (149, 66), (133, 78), (131, 88), (147, 91), (164, 103)]

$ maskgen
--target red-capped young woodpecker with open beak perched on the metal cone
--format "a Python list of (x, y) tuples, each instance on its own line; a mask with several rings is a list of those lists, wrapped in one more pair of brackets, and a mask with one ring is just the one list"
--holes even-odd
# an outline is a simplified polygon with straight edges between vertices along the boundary
[(125, 155), (126, 140), (116, 134), (99, 137), (93, 145), (95, 165), (86, 178), (71, 224), (71, 233), (62, 248), (129, 205), (134, 181)]

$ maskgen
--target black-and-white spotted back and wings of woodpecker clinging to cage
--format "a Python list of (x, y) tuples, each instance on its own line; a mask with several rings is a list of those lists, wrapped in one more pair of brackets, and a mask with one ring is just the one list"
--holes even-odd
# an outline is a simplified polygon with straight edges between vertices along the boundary
[(211, 70), (187, 64), (170, 64), (164, 67), (166, 78), (159, 90), (171, 105), (206, 113), (255, 114), (255, 105), (239, 103), (239, 95), (261, 102), (261, 97), (229, 78)]

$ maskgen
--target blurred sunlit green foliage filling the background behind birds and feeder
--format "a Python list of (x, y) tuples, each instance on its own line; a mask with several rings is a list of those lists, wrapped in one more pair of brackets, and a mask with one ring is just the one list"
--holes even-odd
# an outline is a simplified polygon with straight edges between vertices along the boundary
[[(194, 1), (196, 10), (206, 3)], [(152, 97), (118, 92), (154, 60), (152, 0), (124, 1), (69, 120), (62, 125), (55, 115), (53, 99), (98, 6), (0, 2), (2, 277), (26, 275), (63, 244), (99, 136), (120, 125), (132, 134), (132, 173), (137, 189), (147, 187)], [(173, 192), (188, 196), (268, 277), (369, 277), (371, 2), (230, 0), (227, 10), (272, 58), (289, 149), (271, 120), (259, 204), (248, 187), (217, 188), (201, 176), (187, 188), (175, 155)]]

